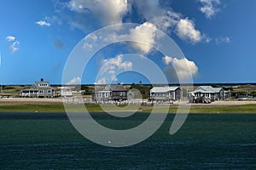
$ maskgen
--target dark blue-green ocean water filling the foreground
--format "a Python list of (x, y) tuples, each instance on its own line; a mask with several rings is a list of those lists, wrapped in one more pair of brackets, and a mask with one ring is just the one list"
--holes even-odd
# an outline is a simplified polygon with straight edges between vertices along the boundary
[[(127, 120), (92, 113), (104, 126)], [(110, 148), (81, 136), (65, 113), (0, 113), (0, 169), (256, 169), (256, 114), (190, 114), (174, 135), (174, 115), (140, 144)]]

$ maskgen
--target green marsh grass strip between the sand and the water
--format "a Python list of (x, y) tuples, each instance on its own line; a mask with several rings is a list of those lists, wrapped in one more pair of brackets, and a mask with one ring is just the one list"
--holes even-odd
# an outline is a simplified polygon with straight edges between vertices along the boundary
[[(71, 111), (83, 111), (76, 105), (69, 105)], [(96, 112), (102, 111), (100, 105), (86, 105), (87, 111)], [(113, 107), (111, 105), (104, 105), (104, 110), (107, 111), (131, 111), (137, 109), (137, 106), (125, 107)], [(139, 111), (150, 112), (151, 107), (140, 107)], [(0, 111), (20, 111), (20, 112), (65, 112), (63, 105), (0, 105)], [(156, 111), (163, 111), (162, 108), (156, 109)], [(170, 113), (176, 113), (177, 108), (170, 108)], [(218, 107), (201, 107), (191, 108), (189, 113), (256, 113), (256, 105), (233, 105), (233, 106), (218, 106)]]

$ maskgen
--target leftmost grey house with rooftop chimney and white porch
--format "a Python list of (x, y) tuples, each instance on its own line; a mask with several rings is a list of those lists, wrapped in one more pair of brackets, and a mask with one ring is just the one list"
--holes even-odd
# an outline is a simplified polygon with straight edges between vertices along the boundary
[(49, 82), (44, 82), (44, 79), (41, 78), (41, 82), (34, 82), (31, 88), (21, 90), (21, 97), (54, 98), (55, 89), (51, 88)]

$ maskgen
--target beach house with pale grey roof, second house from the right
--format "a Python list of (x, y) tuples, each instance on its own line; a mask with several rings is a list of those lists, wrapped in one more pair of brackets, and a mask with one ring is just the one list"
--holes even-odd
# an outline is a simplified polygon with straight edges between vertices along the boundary
[(150, 89), (151, 101), (177, 101), (183, 99), (183, 90), (179, 87), (154, 87)]

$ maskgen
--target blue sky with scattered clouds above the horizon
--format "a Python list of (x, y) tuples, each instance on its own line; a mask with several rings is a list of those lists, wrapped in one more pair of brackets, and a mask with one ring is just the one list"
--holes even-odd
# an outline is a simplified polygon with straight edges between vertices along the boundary
[[(148, 82), (145, 75), (131, 71), (135, 62), (147, 67), (143, 59), (138, 56), (137, 61), (134, 57), (129, 60), (125, 54), (151, 59), (169, 82), (177, 82), (177, 77), (185, 81), (189, 75), (193, 82), (256, 82), (255, 1), (0, 0), (0, 3), (1, 84), (31, 84), (41, 77), (60, 84), (68, 58), (84, 37), (92, 37), (94, 31), (104, 26), (125, 23), (138, 25), (126, 34), (116, 29), (115, 34), (104, 34), (101, 38), (113, 40), (125, 36), (132, 37), (134, 42), (116, 42), (102, 48), (91, 57), (83, 75), (73, 74), (66, 82)], [(143, 34), (138, 34), (139, 31)], [(159, 52), (157, 31), (171, 37), (183, 55)], [(103, 39), (97, 37), (99, 40)], [(94, 47), (88, 44), (88, 48)], [(120, 72), (123, 73), (117, 75)]]

